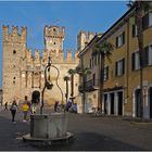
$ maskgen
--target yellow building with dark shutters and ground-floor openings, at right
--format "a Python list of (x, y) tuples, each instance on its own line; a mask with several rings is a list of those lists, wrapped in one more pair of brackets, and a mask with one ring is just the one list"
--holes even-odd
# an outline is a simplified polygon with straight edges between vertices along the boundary
[[(115, 46), (111, 61), (105, 60), (104, 96), (102, 110), (107, 115), (127, 115), (138, 117), (140, 113), (140, 66), (137, 40), (137, 27), (134, 23), (135, 10), (128, 10), (98, 40)], [(143, 116), (152, 117), (152, 13), (143, 15)], [(88, 46), (89, 47), (89, 46)], [(87, 48), (87, 47), (86, 47)], [(88, 49), (89, 51), (89, 49)], [(87, 53), (84, 53), (87, 55)], [(98, 79), (98, 67), (92, 56), (86, 56), (91, 64), (92, 80)], [(85, 59), (85, 56), (84, 56)], [(84, 63), (87, 64), (88, 63)], [(96, 69), (97, 68), (97, 69)], [(96, 72), (96, 76), (94, 76)], [(96, 78), (94, 78), (96, 77)], [(87, 100), (86, 100), (87, 102)]]

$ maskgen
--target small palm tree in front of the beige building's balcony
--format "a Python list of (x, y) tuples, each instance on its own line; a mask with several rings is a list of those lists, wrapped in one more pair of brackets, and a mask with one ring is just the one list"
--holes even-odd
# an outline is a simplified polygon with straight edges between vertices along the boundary
[(86, 101), (86, 80), (87, 80), (87, 75), (91, 74), (91, 71), (84, 66), (77, 66), (75, 68), (75, 72), (83, 78), (83, 113), (85, 113), (85, 101)]

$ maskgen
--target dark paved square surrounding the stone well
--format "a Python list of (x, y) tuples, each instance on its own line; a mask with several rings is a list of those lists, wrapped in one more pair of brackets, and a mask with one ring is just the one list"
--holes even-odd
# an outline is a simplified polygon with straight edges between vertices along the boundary
[(16, 124), (10, 111), (0, 112), (0, 151), (96, 151), (96, 150), (152, 150), (152, 123), (130, 123), (122, 117), (96, 117), (67, 114), (67, 131), (73, 132), (72, 143), (64, 145), (31, 145), (22, 140), (29, 132), (29, 122), (23, 123), (17, 112)]

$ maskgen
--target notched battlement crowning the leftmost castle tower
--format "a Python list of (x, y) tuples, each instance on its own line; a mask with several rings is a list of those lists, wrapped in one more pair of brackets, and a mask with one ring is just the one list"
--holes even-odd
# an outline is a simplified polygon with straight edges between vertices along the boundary
[(21, 33), (17, 26), (12, 26), (11, 33), (9, 33), (9, 25), (2, 26), (2, 38), (3, 42), (23, 42), (26, 43), (27, 28), (25, 26), (21, 27)]

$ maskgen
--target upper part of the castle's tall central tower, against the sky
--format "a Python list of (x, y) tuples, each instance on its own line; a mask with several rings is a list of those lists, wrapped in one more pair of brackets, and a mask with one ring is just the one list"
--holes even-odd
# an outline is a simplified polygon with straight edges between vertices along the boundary
[(56, 56), (59, 56), (59, 51), (63, 50), (63, 41), (65, 35), (65, 27), (60, 26), (46, 26), (43, 30), (45, 37), (45, 49), (56, 52)]

